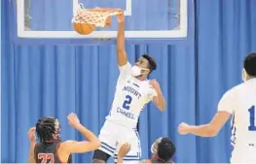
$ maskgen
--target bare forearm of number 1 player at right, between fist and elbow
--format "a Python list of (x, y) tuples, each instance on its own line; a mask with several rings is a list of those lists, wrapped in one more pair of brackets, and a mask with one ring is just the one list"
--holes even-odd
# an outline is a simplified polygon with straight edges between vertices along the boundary
[(190, 126), (188, 129), (189, 133), (192, 133), (201, 137), (214, 137), (217, 133), (211, 128), (210, 124), (204, 124), (200, 126)]

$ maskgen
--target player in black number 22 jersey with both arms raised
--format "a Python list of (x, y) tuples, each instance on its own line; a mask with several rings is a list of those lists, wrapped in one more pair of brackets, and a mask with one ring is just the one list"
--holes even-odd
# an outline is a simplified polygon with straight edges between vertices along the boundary
[[(74, 114), (68, 115), (69, 124), (77, 129), (88, 142), (60, 140), (60, 127), (54, 117), (43, 117), (38, 120), (36, 127), (28, 131), (30, 140), (29, 163), (72, 163), (72, 153), (83, 153), (100, 147), (97, 137), (84, 127)], [(36, 143), (35, 131), (39, 137)]]

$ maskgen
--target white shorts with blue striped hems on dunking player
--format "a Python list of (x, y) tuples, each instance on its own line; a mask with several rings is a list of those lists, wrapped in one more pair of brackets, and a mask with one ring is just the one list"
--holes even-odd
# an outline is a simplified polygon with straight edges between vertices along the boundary
[(126, 142), (130, 144), (130, 151), (124, 157), (124, 162), (137, 162), (141, 158), (139, 134), (136, 129), (128, 129), (106, 120), (100, 130), (98, 139), (101, 142), (101, 148), (99, 149), (114, 156), (115, 161), (119, 148)]

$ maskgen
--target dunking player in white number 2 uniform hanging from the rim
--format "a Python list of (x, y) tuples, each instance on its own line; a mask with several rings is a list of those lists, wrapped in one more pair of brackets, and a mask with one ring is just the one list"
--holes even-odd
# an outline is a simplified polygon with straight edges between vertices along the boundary
[(94, 152), (94, 163), (105, 163), (110, 156), (116, 155), (116, 149), (126, 142), (131, 148), (124, 161), (140, 160), (141, 148), (136, 131), (140, 112), (150, 101), (154, 101), (161, 111), (165, 110), (165, 98), (159, 83), (156, 80), (147, 80), (148, 75), (157, 68), (156, 61), (150, 55), (144, 54), (131, 67), (125, 50), (124, 14), (117, 17), (117, 58), (120, 75), (110, 114), (106, 116), (100, 130), (101, 148)]

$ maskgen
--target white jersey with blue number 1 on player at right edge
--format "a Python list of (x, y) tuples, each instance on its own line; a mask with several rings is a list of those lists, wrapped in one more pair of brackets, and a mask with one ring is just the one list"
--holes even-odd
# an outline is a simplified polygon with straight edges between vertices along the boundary
[(219, 102), (218, 111), (233, 114), (231, 142), (234, 151), (256, 148), (256, 79), (227, 91)]

